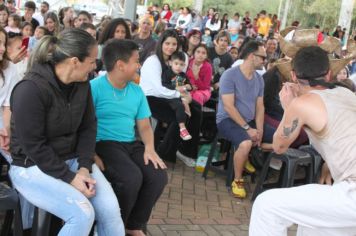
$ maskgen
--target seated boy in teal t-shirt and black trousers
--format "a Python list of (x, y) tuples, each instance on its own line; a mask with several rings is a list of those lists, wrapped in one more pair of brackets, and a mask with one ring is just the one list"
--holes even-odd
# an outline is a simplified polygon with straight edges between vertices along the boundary
[[(113, 185), (130, 235), (143, 234), (167, 184), (166, 165), (154, 149), (146, 97), (132, 82), (140, 68), (138, 49), (131, 40), (109, 41), (103, 49), (107, 74), (90, 81), (98, 120), (95, 162)], [(135, 126), (142, 142), (135, 138)]]

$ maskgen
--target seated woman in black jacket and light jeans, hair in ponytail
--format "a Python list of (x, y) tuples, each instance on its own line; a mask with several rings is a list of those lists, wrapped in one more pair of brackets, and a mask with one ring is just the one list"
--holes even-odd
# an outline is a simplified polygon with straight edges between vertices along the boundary
[(10, 177), (32, 204), (63, 219), (59, 235), (88, 235), (95, 214), (100, 236), (125, 233), (115, 194), (93, 164), (96, 119), (87, 77), (97, 52), (83, 30), (45, 36), (11, 97)]

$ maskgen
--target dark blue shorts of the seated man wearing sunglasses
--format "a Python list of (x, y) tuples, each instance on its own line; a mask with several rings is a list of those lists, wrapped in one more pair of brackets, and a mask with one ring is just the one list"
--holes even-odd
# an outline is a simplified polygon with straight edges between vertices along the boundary
[[(248, 122), (248, 124), (252, 128), (256, 128), (256, 123), (254, 120)], [(230, 141), (235, 147), (238, 147), (240, 143), (245, 140), (251, 140), (246, 130), (240, 125), (236, 124), (236, 122), (230, 118), (220, 121), (217, 124), (217, 127), (219, 130), (219, 134), (222, 135), (228, 141)], [(267, 124), (264, 124), (262, 142), (272, 143), (274, 131), (274, 128)]]

